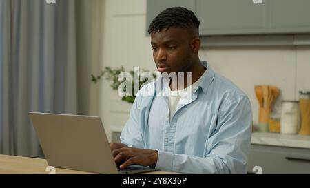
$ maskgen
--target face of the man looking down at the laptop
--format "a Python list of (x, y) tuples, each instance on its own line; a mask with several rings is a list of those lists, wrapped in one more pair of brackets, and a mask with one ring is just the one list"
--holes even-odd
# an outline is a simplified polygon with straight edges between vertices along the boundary
[(193, 37), (188, 29), (169, 28), (152, 32), (153, 59), (159, 72), (186, 72), (192, 65)]

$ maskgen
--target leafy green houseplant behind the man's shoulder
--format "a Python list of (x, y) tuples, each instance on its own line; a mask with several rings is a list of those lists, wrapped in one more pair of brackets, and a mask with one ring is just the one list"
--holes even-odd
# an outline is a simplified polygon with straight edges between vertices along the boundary
[[(105, 67), (104, 70), (101, 71), (101, 73), (98, 76), (94, 76), (94, 74), (92, 74), (92, 82), (93, 83), (98, 83), (102, 78), (106, 79), (107, 81), (110, 81), (110, 87), (112, 87), (112, 90), (118, 90), (118, 87), (120, 87), (121, 83), (123, 83), (123, 81), (118, 81), (118, 75), (121, 74), (122, 72), (126, 72), (125, 68), (123, 66), (121, 67), (117, 67), (117, 68), (112, 68), (112, 67)], [(143, 70), (143, 72), (147, 72), (147, 70)], [(134, 77), (134, 74), (136, 74), (136, 72), (134, 72), (133, 70), (128, 72), (130, 73), (130, 75), (132, 76), (132, 78)], [(153, 78), (155, 78), (155, 74), (152, 74)], [(145, 79), (145, 81), (141, 81), (139, 79), (139, 89), (141, 88), (141, 85), (143, 85), (143, 83), (146, 83), (148, 80)], [(134, 81), (132, 80), (132, 96), (123, 96), (121, 97), (122, 101), (125, 101), (127, 103), (134, 103), (134, 99), (136, 98), (135, 94), (134, 94)]]

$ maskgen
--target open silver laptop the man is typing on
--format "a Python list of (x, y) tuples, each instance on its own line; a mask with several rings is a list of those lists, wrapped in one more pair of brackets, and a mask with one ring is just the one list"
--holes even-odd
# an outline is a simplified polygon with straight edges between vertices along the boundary
[(156, 170), (137, 165), (118, 169), (99, 117), (37, 112), (29, 116), (50, 166), (100, 174)]

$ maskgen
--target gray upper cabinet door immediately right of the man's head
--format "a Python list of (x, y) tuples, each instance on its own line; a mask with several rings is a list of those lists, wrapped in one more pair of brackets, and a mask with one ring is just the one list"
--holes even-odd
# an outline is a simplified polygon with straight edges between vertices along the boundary
[(268, 3), (251, 0), (197, 0), (200, 35), (263, 34), (267, 32)]

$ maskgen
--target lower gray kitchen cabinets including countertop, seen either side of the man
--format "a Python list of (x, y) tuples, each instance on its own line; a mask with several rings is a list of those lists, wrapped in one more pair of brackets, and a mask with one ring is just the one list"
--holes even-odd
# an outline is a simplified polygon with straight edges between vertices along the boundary
[[(121, 130), (116, 129), (112, 132), (112, 142), (121, 143), (119, 136), (121, 136)], [(294, 141), (290, 139), (293, 136), (265, 135), (265, 133), (252, 136), (251, 150), (246, 166), (247, 172), (251, 173), (254, 167), (259, 166), (262, 168), (262, 174), (310, 174), (309, 140), (297, 136), (297, 140)], [(300, 147), (253, 144), (259, 142), (300, 145)]]

